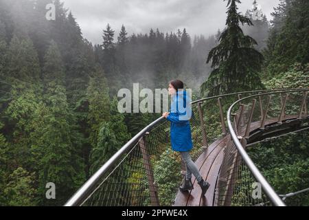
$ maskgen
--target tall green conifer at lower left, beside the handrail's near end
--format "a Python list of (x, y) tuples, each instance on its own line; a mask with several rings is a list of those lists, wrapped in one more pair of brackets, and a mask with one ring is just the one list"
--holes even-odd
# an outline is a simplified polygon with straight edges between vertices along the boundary
[[(52, 83), (49, 83), (51, 86)], [(74, 141), (76, 131), (68, 109), (65, 89), (60, 85), (47, 88), (47, 104), (40, 104), (33, 122), (31, 134), (32, 155), (38, 169), (38, 193), (44, 205), (62, 204), (69, 199), (84, 181), (84, 164), (80, 155), (80, 143)], [(54, 182), (58, 196), (45, 199), (45, 184)]]

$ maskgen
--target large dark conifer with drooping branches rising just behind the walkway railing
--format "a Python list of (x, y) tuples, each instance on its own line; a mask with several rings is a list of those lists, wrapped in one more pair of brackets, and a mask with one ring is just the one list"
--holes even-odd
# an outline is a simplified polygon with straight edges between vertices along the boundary
[(253, 48), (256, 41), (242, 32), (240, 23), (252, 23), (237, 12), (236, 3), (240, 0), (228, 1), (227, 27), (220, 35), (220, 44), (209, 52), (207, 58), (207, 63), (212, 61), (214, 70), (201, 86), (201, 92), (208, 92), (208, 96), (262, 87), (258, 72), (263, 56)]

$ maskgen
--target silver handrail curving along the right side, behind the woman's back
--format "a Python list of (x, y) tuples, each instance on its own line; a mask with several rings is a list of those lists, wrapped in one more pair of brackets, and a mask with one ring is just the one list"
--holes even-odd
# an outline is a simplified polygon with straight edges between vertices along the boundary
[[(309, 89), (288, 89), (288, 92), (294, 92), (294, 91), (309, 91)], [(272, 94), (280, 94), (280, 91), (271, 92), (271, 93), (264, 93), (264, 94), (258, 94), (253, 96), (248, 96), (246, 98), (242, 98), (236, 102), (234, 102), (231, 107), (229, 107), (229, 110), (227, 111), (227, 125), (229, 127), (229, 132), (231, 134), (231, 137), (233, 139), (233, 142), (236, 145), (236, 148), (238, 149), (238, 152), (242, 156), (242, 159), (244, 159), (244, 162), (247, 164), (248, 168), (251, 170), (253, 176), (255, 179), (257, 179), (263, 190), (265, 191), (266, 195), (269, 199), (275, 204), (275, 206), (286, 206), (286, 204), (280, 199), (280, 197), (277, 195), (275, 190), (271, 187), (270, 184), (268, 184), (268, 181), (266, 181), (265, 177), (262, 175), (260, 170), (255, 166), (252, 159), (247, 154), (246, 150), (243, 148), (242, 144), (240, 143), (240, 140), (238, 140), (238, 136), (236, 135), (236, 132), (233, 130), (233, 126), (231, 124), (231, 110), (233, 107), (236, 106), (236, 104), (239, 104), (240, 102), (247, 100), (249, 98), (254, 98), (257, 96), (266, 96), (266, 95), (272, 95)]]

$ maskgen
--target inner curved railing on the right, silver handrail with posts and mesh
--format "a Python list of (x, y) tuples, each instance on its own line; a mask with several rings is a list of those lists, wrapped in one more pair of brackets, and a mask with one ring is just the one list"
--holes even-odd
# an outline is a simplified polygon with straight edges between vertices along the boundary
[[(255, 166), (246, 148), (250, 143), (270, 136), (308, 129), (308, 125), (302, 123), (308, 122), (308, 91), (309, 89), (272, 91), (242, 98), (229, 107), (227, 124), (232, 141), (225, 149), (220, 170), (218, 205), (260, 206), (272, 203), (275, 206), (285, 206)], [(232, 113), (235, 109), (237, 113)], [(253, 187), (260, 184), (263, 192), (259, 196), (252, 194), (252, 184)]]

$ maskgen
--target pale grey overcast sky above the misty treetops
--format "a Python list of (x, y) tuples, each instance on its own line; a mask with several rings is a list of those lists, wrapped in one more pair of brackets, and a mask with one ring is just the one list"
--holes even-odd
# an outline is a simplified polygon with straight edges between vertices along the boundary
[[(253, 0), (241, 0), (240, 12), (252, 7)], [(63, 0), (73, 13), (83, 36), (92, 43), (102, 43), (107, 23), (115, 30), (122, 24), (128, 34), (148, 33), (150, 28), (176, 32), (186, 28), (190, 36), (216, 33), (225, 28), (227, 1), (223, 0)], [(271, 19), (279, 0), (258, 0), (262, 12)]]

